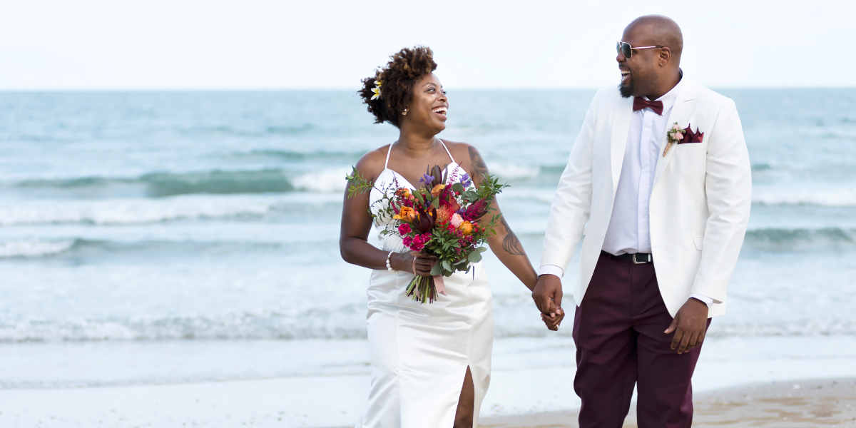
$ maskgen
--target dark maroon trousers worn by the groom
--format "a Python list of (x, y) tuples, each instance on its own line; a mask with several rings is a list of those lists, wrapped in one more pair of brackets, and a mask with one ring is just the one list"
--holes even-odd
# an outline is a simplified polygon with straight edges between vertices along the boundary
[[(690, 428), (701, 347), (678, 354), (654, 265), (601, 253), (574, 314), (580, 428), (620, 428), (637, 385), (639, 428)], [(710, 325), (710, 319), (708, 319)]]

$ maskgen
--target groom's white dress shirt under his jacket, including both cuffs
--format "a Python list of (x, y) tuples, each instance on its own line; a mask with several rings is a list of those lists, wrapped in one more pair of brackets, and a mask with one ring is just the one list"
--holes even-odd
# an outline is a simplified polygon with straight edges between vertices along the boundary
[[(681, 91), (681, 81), (657, 98), (663, 102), (662, 115), (657, 115), (649, 108), (633, 112), (624, 161), (621, 163), (621, 176), (615, 190), (612, 217), (609, 218), (609, 227), (603, 240), (603, 251), (607, 253), (616, 256), (624, 253), (651, 253), (648, 201), (651, 199), (661, 145), (669, 125), (666, 121)], [(562, 268), (556, 265), (544, 265), (539, 270), (539, 275), (562, 277), (563, 273)], [(701, 294), (693, 293), (690, 297), (703, 301), (707, 306), (713, 303), (713, 299)]]

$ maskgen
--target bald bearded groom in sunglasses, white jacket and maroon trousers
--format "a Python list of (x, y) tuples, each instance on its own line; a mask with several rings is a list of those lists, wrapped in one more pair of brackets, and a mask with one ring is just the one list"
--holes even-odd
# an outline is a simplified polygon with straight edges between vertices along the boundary
[[(681, 28), (642, 16), (618, 42), (618, 90), (591, 101), (550, 209), (532, 298), (563, 316), (580, 238), (574, 390), (580, 427), (620, 427), (638, 389), (640, 428), (686, 427), (710, 317), (746, 234), (750, 164), (734, 101), (687, 80)], [(584, 228), (585, 227), (585, 228)]]

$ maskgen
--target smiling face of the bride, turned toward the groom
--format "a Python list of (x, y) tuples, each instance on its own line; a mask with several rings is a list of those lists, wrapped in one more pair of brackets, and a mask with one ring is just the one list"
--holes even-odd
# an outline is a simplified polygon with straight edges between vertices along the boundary
[(437, 75), (425, 74), (413, 83), (413, 95), (407, 103), (407, 115), (401, 117), (401, 124), (427, 128), (439, 134), (446, 128), (448, 113), (449, 98), (446, 98), (443, 85)]

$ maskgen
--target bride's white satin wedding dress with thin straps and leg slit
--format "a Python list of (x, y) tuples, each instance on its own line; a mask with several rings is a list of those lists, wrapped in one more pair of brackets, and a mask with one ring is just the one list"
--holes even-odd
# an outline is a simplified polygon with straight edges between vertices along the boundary
[[(451, 160), (446, 167), (449, 181), (464, 174)], [(413, 188), (387, 168), (388, 163), (389, 152), (375, 187), (387, 189), (395, 181), (399, 187)], [(377, 214), (381, 197), (380, 191), (372, 190), (373, 213)], [(382, 231), (391, 227), (390, 220), (376, 220), (375, 226)], [(383, 251), (408, 251), (396, 235), (378, 233), (378, 239)], [(438, 294), (431, 304), (419, 304), (405, 294), (411, 279), (413, 274), (403, 271), (372, 270), (366, 317), (372, 388), (356, 428), (452, 428), (467, 367), (475, 387), (476, 427), (490, 384), (493, 348), (493, 300), (484, 265), (479, 262), (469, 273), (446, 277), (448, 295)]]

